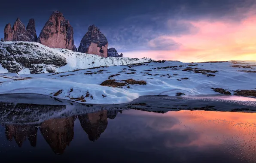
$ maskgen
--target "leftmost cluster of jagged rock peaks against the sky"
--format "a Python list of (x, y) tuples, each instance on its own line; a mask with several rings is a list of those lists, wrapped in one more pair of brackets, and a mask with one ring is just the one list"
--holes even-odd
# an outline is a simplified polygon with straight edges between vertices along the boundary
[(30, 19), (25, 25), (19, 18), (15, 21), (13, 27), (11, 24), (6, 24), (4, 28), (4, 41), (37, 41), (37, 33), (34, 19)]

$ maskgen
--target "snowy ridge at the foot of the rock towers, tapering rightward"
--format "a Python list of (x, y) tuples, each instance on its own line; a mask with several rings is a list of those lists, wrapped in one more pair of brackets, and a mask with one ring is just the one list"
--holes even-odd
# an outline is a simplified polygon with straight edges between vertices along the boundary
[(0, 42), (0, 73), (47, 73), (124, 65), (151, 61), (149, 58), (103, 58), (67, 49), (49, 48), (38, 42)]

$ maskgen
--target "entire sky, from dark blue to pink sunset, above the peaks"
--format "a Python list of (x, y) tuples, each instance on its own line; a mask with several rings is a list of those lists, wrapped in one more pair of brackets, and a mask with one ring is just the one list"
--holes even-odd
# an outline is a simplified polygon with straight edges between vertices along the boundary
[(79, 46), (95, 24), (125, 57), (201, 62), (256, 60), (256, 0), (12, 0), (1, 3), (4, 26), (36, 21), (37, 35), (58, 10)]

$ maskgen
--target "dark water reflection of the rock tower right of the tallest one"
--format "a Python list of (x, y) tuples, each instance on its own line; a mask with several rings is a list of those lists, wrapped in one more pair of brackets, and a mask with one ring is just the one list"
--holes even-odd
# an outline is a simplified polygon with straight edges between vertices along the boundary
[(79, 115), (80, 124), (88, 134), (89, 140), (94, 142), (107, 128), (107, 110)]

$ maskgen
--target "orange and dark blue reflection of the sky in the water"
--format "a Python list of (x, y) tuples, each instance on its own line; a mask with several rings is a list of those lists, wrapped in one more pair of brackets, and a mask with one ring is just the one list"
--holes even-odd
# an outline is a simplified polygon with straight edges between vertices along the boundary
[[(88, 119), (91, 126), (98, 123)], [(104, 116), (101, 121), (105, 121)], [(113, 120), (107, 119), (107, 129), (95, 142), (88, 139), (80, 122), (81, 118), (75, 120), (74, 139), (61, 155), (52, 152), (39, 131), (35, 148), (27, 140), (18, 148), (15, 141), (7, 142), (5, 128), (0, 127), (0, 157), (17, 161), (20, 156), (21, 160), (32, 161), (43, 156), (42, 161), (63, 162), (256, 161), (256, 113), (179, 111), (158, 114), (128, 110), (118, 113)]]

